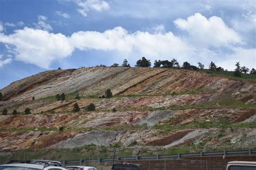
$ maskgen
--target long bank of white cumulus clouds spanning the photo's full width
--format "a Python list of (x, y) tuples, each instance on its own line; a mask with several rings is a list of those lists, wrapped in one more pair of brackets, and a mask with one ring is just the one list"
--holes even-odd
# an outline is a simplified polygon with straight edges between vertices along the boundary
[[(237, 62), (246, 55), (247, 63), (244, 65), (247, 67), (255, 65), (255, 49), (232, 46), (232, 44), (242, 44), (242, 40), (236, 32), (225, 25), (221, 18), (207, 19), (196, 14), (188, 17), (187, 20), (177, 19), (175, 23), (179, 29), (188, 32), (187, 38), (175, 36), (170, 31), (166, 32), (164, 25), (154, 27), (154, 33), (129, 32), (118, 26), (104, 32), (74, 32), (70, 37), (61, 33), (55, 34), (46, 30), (24, 27), (13, 34), (0, 33), (0, 42), (8, 44), (8, 51), (12, 52), (16, 60), (42, 68), (49, 68), (53, 60), (64, 59), (72, 55), (76, 49), (113, 51), (122, 56), (134, 56), (130, 58), (133, 61), (138, 56), (146, 56), (151, 61), (177, 58), (179, 61), (190, 61), (192, 64), (198, 61), (206, 64), (206, 61), (212, 60), (224, 68), (231, 67), (227, 66), (228, 62), (222, 62), (218, 56), (223, 56), (229, 62), (231, 60)], [(215, 51), (209, 48), (211, 46), (226, 47), (233, 52), (227, 54), (223, 51)]]

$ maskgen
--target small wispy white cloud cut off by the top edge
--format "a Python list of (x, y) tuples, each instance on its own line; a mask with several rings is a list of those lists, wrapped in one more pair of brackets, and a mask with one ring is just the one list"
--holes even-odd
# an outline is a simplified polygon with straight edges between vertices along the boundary
[(77, 0), (75, 1), (75, 3), (79, 7), (77, 11), (84, 17), (87, 17), (87, 13), (90, 10), (96, 10), (101, 12), (110, 9), (109, 3), (102, 0)]

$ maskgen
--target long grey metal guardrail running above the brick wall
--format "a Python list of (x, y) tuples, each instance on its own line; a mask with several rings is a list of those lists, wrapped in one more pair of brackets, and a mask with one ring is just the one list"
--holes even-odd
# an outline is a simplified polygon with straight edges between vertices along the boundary
[[(117, 157), (114, 161), (117, 160), (158, 160), (158, 159), (180, 159), (182, 157), (205, 157), (205, 156), (219, 156), (219, 155), (251, 155), (256, 154), (256, 150), (244, 150), (244, 151), (221, 151), (221, 152), (200, 152), (200, 153), (178, 153), (178, 154), (167, 154), (167, 155), (150, 155), (150, 156), (132, 156), (132, 157)], [(66, 164), (79, 164), (91, 162), (111, 162), (113, 158), (102, 158), (102, 159), (91, 159), (84, 160), (80, 159), (77, 161), (63, 161), (63, 165)]]

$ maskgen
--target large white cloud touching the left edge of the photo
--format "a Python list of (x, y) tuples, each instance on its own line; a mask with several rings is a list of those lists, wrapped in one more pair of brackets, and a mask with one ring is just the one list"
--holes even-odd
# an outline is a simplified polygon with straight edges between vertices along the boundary
[(0, 34), (0, 42), (12, 45), (15, 59), (38, 67), (49, 68), (51, 62), (70, 56), (73, 47), (63, 34), (24, 27), (14, 34)]

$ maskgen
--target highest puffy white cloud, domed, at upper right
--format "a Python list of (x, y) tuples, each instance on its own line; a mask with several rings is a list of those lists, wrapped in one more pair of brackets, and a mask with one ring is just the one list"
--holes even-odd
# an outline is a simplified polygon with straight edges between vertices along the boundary
[(187, 31), (191, 43), (199, 47), (230, 47), (234, 44), (243, 44), (237, 32), (230, 29), (221, 18), (213, 16), (207, 19), (200, 13), (185, 19), (176, 19), (174, 24)]

